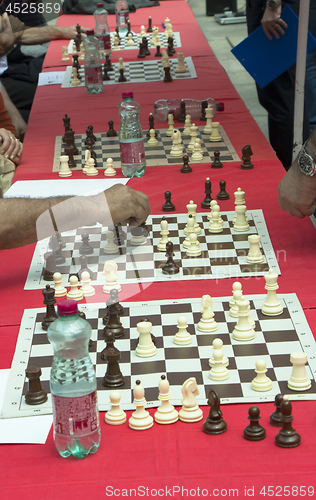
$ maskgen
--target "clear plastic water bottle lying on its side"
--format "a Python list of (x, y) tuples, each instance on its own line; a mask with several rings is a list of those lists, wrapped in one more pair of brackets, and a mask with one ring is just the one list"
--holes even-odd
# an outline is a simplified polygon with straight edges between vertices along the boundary
[[(158, 120), (167, 120), (169, 113), (173, 114), (175, 120), (180, 116), (181, 101), (185, 102), (185, 112), (190, 115), (191, 118), (197, 118), (201, 115), (202, 101), (198, 99), (160, 99), (154, 103), (155, 116)], [(212, 97), (204, 99), (207, 101), (208, 105), (211, 105), (213, 109), (213, 116), (215, 116), (216, 111), (224, 111), (224, 103), (216, 102)]]

